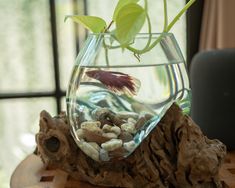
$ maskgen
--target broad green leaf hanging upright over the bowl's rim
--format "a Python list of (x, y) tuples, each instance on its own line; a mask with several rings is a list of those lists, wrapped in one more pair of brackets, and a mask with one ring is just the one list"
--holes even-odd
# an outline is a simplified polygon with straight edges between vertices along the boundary
[(141, 30), (146, 19), (145, 10), (138, 4), (128, 4), (120, 9), (116, 20), (116, 37), (126, 47)]

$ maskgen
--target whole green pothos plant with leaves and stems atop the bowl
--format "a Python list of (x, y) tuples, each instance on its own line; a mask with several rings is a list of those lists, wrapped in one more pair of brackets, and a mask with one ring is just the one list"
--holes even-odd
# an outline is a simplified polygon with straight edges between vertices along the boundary
[[(96, 16), (86, 15), (68, 15), (65, 21), (71, 18), (74, 22), (83, 25), (93, 33), (112, 33), (115, 40), (120, 43), (121, 48), (132, 51), (139, 59), (140, 55), (150, 51), (156, 46), (165, 33), (168, 33), (179, 18), (196, 0), (190, 0), (182, 10), (168, 22), (167, 0), (163, 0), (164, 4), (164, 28), (158, 38), (152, 39), (151, 19), (148, 14), (148, 0), (144, 0), (141, 6), (140, 0), (119, 0), (112, 16), (110, 23), (106, 23), (104, 19)], [(144, 23), (147, 21), (149, 38), (144, 48), (136, 49), (132, 47), (133, 39), (140, 32)], [(111, 26), (115, 24), (114, 29)], [(105, 45), (105, 44), (104, 44)]]

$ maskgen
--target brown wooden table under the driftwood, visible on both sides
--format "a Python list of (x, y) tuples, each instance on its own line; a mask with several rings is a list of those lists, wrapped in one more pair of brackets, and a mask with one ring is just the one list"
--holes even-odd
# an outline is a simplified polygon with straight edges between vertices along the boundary
[[(228, 153), (220, 170), (224, 187), (235, 188), (235, 152)], [(47, 170), (41, 159), (32, 154), (15, 169), (11, 188), (101, 188), (71, 179), (61, 170)]]

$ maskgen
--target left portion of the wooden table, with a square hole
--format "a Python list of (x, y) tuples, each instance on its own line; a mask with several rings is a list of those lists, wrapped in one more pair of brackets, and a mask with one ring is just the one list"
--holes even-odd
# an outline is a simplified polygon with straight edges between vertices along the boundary
[[(32, 154), (26, 157), (11, 176), (11, 188), (95, 188), (75, 181), (62, 170), (47, 170), (41, 159)], [(98, 188), (98, 187), (97, 187)], [(100, 187), (101, 188), (101, 187)]]

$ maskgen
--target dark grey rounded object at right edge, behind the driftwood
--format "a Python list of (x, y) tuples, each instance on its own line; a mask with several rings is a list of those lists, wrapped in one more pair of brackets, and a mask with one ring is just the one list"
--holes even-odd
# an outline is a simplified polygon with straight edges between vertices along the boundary
[(198, 53), (190, 67), (192, 119), (209, 138), (235, 149), (235, 49)]

